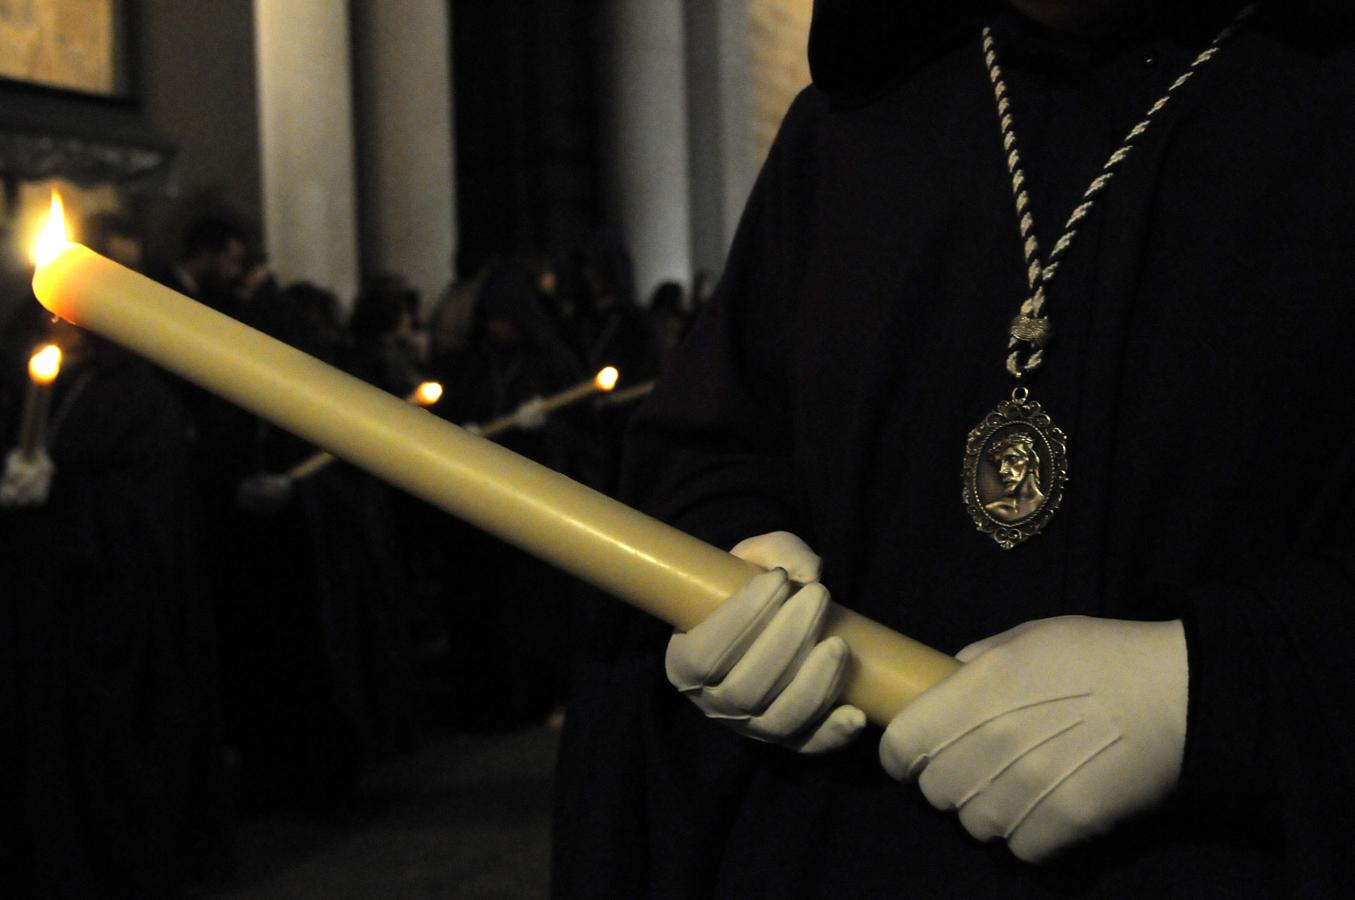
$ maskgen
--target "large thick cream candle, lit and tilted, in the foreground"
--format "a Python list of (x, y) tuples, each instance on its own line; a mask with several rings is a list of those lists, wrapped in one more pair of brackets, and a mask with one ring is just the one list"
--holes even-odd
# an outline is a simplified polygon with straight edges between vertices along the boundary
[[(332, 369), (62, 237), (38, 259), (34, 293), (236, 405), (328, 447), (472, 525), (690, 629), (752, 568), (499, 445)], [(852, 649), (844, 699), (877, 724), (958, 663), (835, 606)]]

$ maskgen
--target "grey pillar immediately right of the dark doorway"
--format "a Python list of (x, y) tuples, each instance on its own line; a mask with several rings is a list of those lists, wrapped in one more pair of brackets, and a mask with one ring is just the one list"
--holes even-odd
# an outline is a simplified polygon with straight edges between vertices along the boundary
[(683, 0), (608, 0), (604, 28), (603, 173), (645, 302), (691, 279)]

